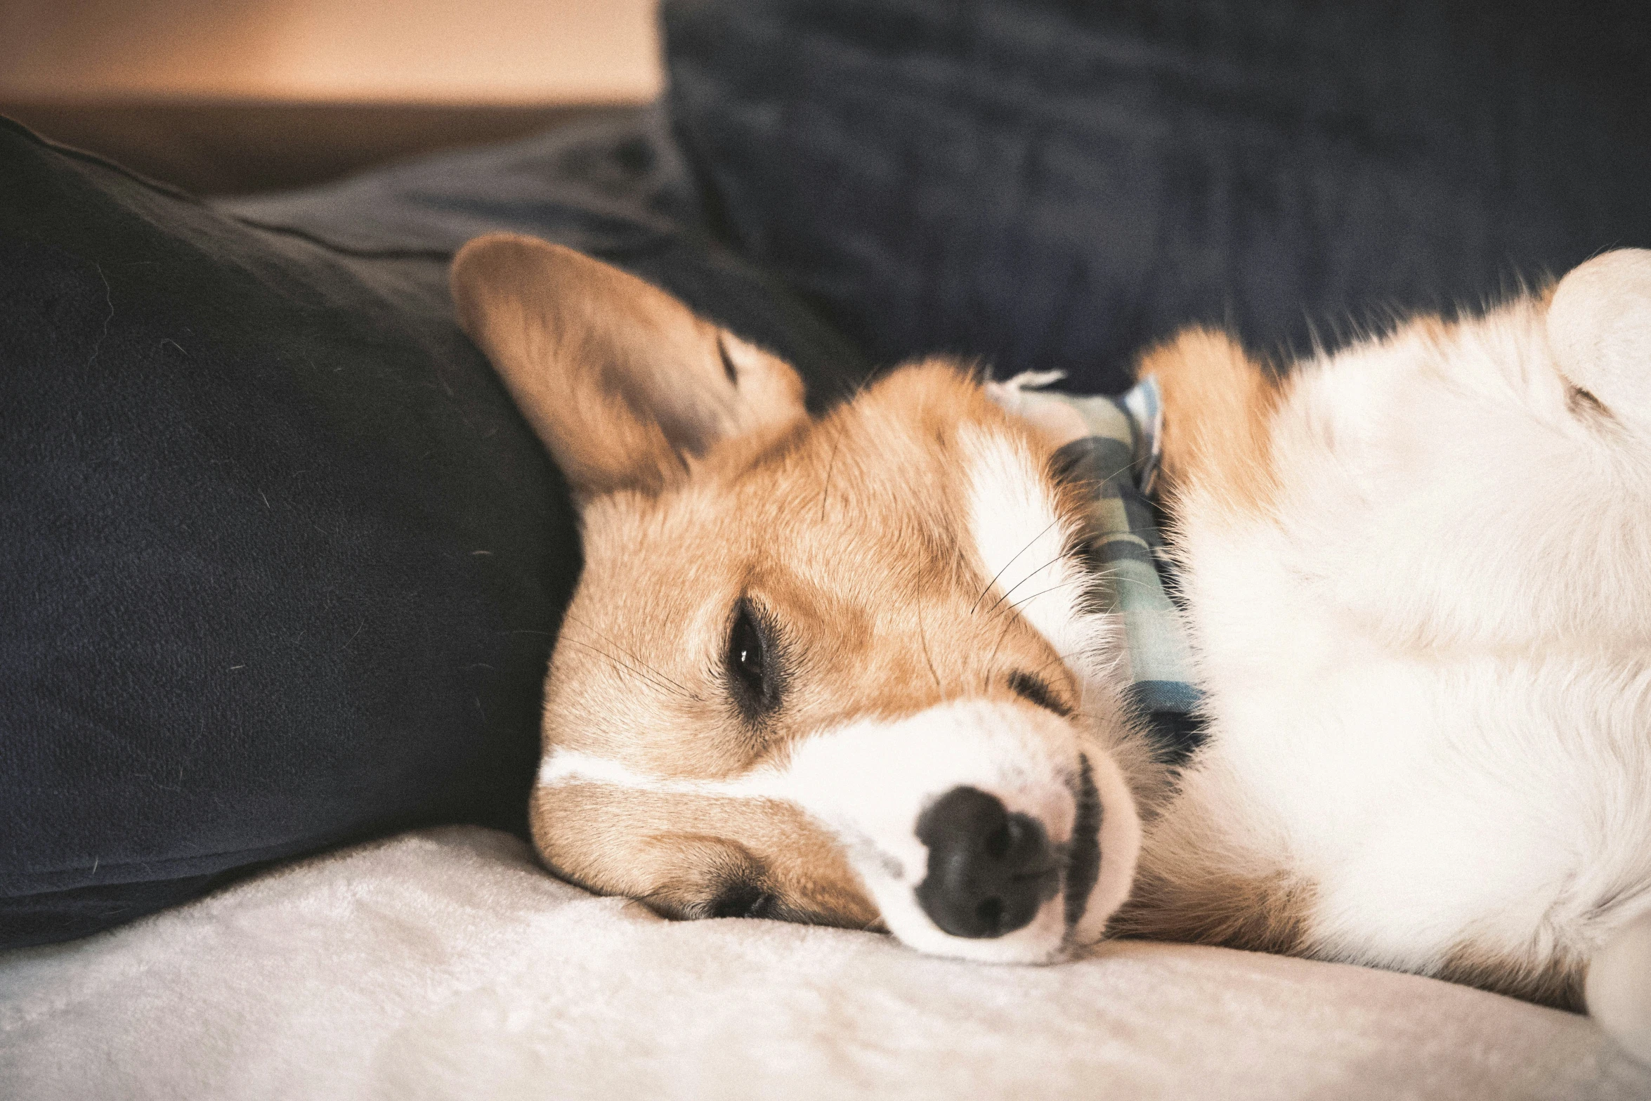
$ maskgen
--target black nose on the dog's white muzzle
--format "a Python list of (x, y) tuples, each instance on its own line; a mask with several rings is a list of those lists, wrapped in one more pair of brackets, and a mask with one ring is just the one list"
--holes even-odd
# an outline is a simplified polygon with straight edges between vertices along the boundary
[(1009, 814), (977, 787), (953, 787), (936, 799), (918, 817), (918, 840), (930, 850), (918, 905), (953, 936), (1014, 933), (1060, 886), (1043, 825)]

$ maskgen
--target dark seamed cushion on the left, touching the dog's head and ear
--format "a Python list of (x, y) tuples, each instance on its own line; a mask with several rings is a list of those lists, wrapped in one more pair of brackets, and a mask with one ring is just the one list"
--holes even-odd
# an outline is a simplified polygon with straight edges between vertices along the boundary
[(857, 376), (697, 236), (659, 132), (220, 210), (0, 124), (0, 947), (401, 827), (523, 829), (578, 540), (451, 317), (452, 248), (565, 239), (821, 396)]

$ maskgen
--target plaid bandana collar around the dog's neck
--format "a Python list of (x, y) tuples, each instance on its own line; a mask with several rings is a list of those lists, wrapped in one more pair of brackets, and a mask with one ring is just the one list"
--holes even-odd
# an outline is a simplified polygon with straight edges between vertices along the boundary
[(989, 393), (1009, 413), (1070, 439), (1055, 452), (1055, 470), (1090, 490), (1083, 530), (1095, 571), (1090, 598), (1123, 624), (1126, 697), (1151, 723), (1164, 756), (1179, 761), (1202, 740), (1200, 692), (1151, 500), (1164, 428), (1157, 380), (1144, 378), (1118, 398), (1042, 390), (1058, 378), (1055, 371), (1017, 375), (992, 383)]

